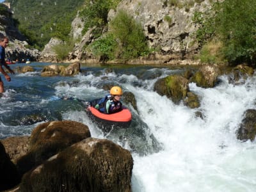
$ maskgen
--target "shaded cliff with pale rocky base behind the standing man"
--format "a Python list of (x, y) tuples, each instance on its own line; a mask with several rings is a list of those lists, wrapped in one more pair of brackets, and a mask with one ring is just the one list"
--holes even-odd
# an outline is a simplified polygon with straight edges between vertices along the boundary
[(15, 27), (12, 19), (12, 13), (9, 15), (0, 15), (0, 33), (8, 36), (9, 45), (6, 47), (6, 57), (12, 61), (15, 60), (38, 60), (39, 51), (37, 49), (27, 49), (26, 38)]

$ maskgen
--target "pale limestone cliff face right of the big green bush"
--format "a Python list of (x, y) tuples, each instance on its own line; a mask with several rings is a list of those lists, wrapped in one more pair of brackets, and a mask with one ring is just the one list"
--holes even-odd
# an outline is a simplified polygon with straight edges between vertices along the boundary
[[(193, 24), (194, 13), (211, 8), (208, 0), (186, 6), (171, 6), (169, 1), (130, 0), (122, 1), (117, 10), (126, 10), (139, 20), (151, 47), (159, 47), (164, 54), (175, 54), (180, 59), (198, 51), (195, 41), (197, 26)], [(113, 17), (113, 16), (112, 16)]]

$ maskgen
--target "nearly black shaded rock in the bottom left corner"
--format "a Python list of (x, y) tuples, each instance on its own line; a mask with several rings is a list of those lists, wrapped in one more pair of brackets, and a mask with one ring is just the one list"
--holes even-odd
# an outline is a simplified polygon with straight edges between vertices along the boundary
[(4, 145), (0, 142), (0, 191), (13, 188), (20, 182), (20, 175), (15, 164), (6, 154)]

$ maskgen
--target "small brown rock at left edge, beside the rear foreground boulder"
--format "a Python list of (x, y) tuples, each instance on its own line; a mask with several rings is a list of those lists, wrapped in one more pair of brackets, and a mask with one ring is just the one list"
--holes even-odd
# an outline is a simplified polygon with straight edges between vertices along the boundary
[(6, 153), (13, 163), (16, 163), (19, 157), (28, 152), (29, 136), (14, 136), (0, 141), (3, 143)]

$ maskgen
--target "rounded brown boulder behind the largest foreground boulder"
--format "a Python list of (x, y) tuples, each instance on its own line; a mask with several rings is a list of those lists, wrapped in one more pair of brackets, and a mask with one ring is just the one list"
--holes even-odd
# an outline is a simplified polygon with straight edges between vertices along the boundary
[(64, 148), (90, 137), (89, 128), (79, 122), (46, 122), (38, 125), (31, 133), (29, 150), (17, 160), (21, 174), (41, 164)]

